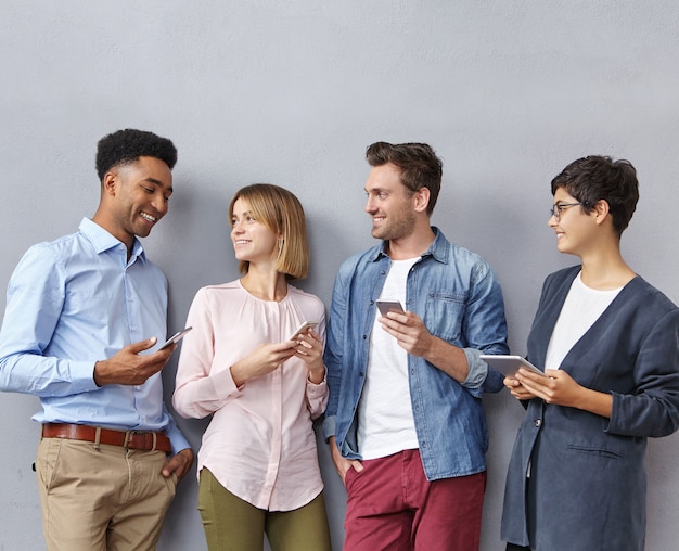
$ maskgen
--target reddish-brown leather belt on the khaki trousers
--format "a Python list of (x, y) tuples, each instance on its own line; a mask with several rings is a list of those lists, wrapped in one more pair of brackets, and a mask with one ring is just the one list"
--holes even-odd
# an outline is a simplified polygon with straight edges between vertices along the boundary
[(165, 433), (113, 431), (90, 425), (46, 423), (42, 425), (42, 437), (108, 444), (111, 446), (121, 446), (130, 450), (172, 452), (169, 438), (165, 436)]

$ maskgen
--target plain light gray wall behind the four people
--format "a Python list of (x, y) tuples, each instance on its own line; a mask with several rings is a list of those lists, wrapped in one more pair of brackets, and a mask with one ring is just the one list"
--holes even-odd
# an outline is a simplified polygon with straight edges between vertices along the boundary
[[(137, 127), (179, 149), (170, 214), (144, 242), (170, 282), (170, 331), (200, 286), (238, 276), (226, 210), (253, 181), (300, 197), (313, 253), (300, 286), (329, 305), (341, 261), (372, 244), (363, 151), (376, 140), (426, 141), (444, 158), (434, 222), (495, 266), (514, 353), (525, 353), (542, 279), (575, 261), (547, 228), (549, 181), (586, 154), (637, 166), (641, 201), (624, 252), (678, 302), (678, 15), (675, 0), (4, 0), (0, 287), (30, 244), (94, 213), (95, 142)], [(175, 369), (176, 358), (168, 398)], [(503, 549), (504, 470), (522, 410), (507, 393), (486, 406), (489, 551)], [(0, 396), (0, 550), (42, 548), (37, 408), (34, 397)], [(197, 448), (205, 423), (180, 425)], [(345, 495), (325, 446), (319, 453), (341, 549)], [(649, 446), (650, 550), (679, 540), (678, 453), (676, 435)], [(204, 549), (195, 500), (190, 476), (161, 549)]]

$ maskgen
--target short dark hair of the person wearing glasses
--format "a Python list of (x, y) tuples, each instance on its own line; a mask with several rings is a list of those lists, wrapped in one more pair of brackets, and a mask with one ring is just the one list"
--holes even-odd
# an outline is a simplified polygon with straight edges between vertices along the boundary
[(566, 166), (552, 180), (552, 195), (559, 188), (573, 195), (588, 213), (598, 201), (608, 203), (618, 235), (629, 225), (639, 201), (639, 181), (632, 164), (601, 155), (578, 158)]

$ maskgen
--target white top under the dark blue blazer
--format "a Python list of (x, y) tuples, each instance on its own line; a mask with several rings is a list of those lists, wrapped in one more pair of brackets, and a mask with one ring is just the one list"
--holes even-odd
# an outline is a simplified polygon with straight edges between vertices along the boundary
[(599, 291), (582, 283), (582, 272), (571, 284), (571, 291), (561, 309), (556, 325), (549, 341), (546, 369), (559, 369), (561, 362), (604, 310), (615, 299), (623, 287)]

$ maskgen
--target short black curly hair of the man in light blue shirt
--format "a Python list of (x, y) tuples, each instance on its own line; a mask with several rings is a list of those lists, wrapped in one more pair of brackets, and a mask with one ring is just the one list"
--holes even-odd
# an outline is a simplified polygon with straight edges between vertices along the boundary
[(113, 167), (134, 163), (139, 157), (159, 158), (171, 170), (177, 163), (177, 149), (167, 138), (131, 128), (104, 136), (97, 143), (97, 174), (100, 181)]

